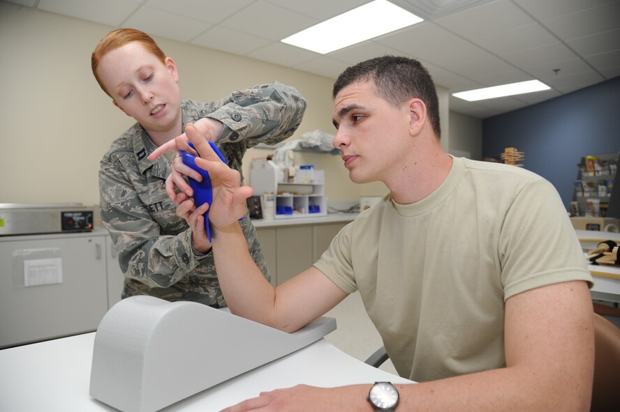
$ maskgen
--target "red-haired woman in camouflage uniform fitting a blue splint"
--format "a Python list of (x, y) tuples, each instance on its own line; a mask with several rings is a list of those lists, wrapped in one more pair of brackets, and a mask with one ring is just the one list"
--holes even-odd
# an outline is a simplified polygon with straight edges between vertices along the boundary
[[(234, 91), (216, 102), (181, 100), (175, 61), (154, 40), (135, 29), (116, 29), (96, 46), (91, 65), (97, 82), (115, 106), (137, 123), (124, 132), (101, 160), (101, 220), (119, 254), (125, 274), (122, 297), (151, 295), (226, 306), (210, 250), (193, 246), (189, 225), (175, 214), (173, 183), (185, 167), (172, 153), (149, 160), (158, 146), (184, 134), (194, 123), (212, 140), (228, 165), (241, 171), (246, 150), (286, 139), (302, 121), (306, 101), (293, 87), (274, 82)], [(195, 171), (185, 170), (195, 178)], [(169, 193), (166, 193), (166, 178)], [(249, 215), (240, 222), (256, 264), (270, 278)], [(200, 247), (205, 250), (204, 247)]]

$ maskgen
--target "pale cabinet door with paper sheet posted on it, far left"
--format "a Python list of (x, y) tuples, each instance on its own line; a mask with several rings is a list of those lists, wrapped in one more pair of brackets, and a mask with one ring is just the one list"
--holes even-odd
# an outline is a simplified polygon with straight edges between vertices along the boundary
[(96, 330), (108, 311), (105, 237), (0, 238), (0, 348)]

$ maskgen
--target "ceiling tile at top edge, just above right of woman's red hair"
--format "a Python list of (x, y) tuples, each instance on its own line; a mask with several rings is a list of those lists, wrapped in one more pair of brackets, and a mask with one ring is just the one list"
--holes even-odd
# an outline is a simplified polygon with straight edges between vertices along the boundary
[(237, 13), (254, 0), (147, 0), (144, 5), (216, 24)]

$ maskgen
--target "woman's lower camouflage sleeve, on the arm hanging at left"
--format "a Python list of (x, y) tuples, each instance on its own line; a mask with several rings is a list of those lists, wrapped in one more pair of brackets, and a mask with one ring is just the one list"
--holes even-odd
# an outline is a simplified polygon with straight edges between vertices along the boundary
[(191, 232), (175, 215), (174, 201), (161, 188), (145, 187), (141, 188), (145, 193), (161, 192), (153, 193), (160, 200), (145, 204), (145, 193), (138, 194), (130, 174), (117, 158), (106, 156), (101, 161), (101, 220), (110, 231), (126, 277), (149, 287), (169, 287), (190, 273), (200, 258), (192, 253)]

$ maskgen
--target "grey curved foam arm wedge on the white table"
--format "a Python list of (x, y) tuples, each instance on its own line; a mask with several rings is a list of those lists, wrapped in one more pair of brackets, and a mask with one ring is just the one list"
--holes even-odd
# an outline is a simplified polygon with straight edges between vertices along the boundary
[(99, 323), (90, 395), (124, 412), (158, 411), (335, 329), (323, 317), (289, 334), (200, 303), (133, 296)]

